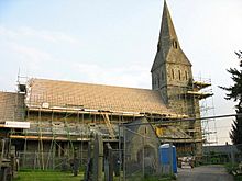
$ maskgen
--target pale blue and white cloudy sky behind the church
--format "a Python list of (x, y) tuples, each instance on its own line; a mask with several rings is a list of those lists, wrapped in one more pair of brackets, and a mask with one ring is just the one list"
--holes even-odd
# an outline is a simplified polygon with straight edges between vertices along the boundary
[[(163, 0), (0, 0), (0, 90), (15, 91), (18, 75), (151, 89)], [(234, 113), (218, 86), (239, 67), (241, 0), (167, 0), (195, 78), (212, 82), (215, 108)], [(21, 81), (24, 81), (21, 79)], [(230, 143), (232, 117), (209, 122), (219, 144)], [(210, 125), (209, 127), (212, 127)], [(215, 128), (215, 127), (213, 127)]]

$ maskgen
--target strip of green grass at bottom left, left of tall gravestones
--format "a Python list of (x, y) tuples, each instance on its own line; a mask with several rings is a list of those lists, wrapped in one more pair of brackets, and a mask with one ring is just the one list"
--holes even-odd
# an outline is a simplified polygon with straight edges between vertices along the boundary
[(72, 172), (61, 171), (19, 171), (13, 181), (80, 181), (84, 174), (74, 177)]

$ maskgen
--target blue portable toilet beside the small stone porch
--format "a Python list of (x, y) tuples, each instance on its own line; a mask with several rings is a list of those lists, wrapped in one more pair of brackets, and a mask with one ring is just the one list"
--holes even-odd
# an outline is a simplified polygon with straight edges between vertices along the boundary
[(160, 163), (165, 173), (170, 172), (170, 165), (173, 173), (177, 173), (176, 147), (169, 144), (163, 144), (158, 147)]

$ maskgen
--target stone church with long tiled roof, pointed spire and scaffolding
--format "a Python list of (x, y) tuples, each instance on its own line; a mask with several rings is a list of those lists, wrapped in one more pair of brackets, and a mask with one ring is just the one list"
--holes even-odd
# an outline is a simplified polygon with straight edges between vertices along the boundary
[(194, 80), (166, 2), (151, 73), (152, 90), (29, 79), (18, 84), (18, 92), (0, 92), (1, 124), (30, 123), (29, 129), (12, 129), (10, 138), (16, 151), (37, 154), (42, 167), (51, 163), (48, 158), (72, 155), (74, 148), (85, 159), (92, 132), (119, 148), (120, 125), (142, 117), (161, 144), (177, 147), (178, 156), (201, 157), (199, 100), (211, 94), (200, 90), (210, 84)]

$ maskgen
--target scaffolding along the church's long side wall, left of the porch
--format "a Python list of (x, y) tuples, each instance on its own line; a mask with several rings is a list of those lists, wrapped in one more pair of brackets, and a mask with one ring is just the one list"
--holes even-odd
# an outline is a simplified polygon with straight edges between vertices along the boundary
[[(91, 133), (99, 133), (105, 142), (117, 145), (120, 136), (119, 124), (144, 116), (139, 113), (121, 114), (76, 105), (50, 108), (47, 104), (42, 104), (41, 108), (29, 106), (25, 114), (25, 120), (31, 123), (30, 129), (24, 131), (24, 134), (12, 133), (10, 137), (24, 140), (24, 150), (20, 152), (22, 167), (29, 166), (41, 170), (62, 169), (64, 165), (72, 162), (77, 147), (80, 163), (85, 163)], [(37, 143), (37, 149), (34, 151), (31, 142)], [(114, 147), (118, 148), (118, 145)]]

